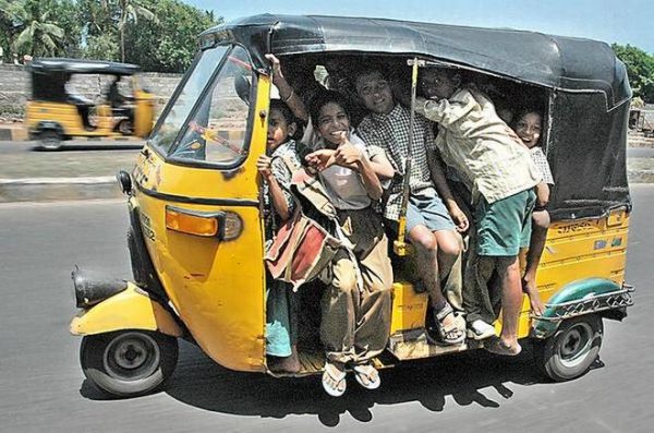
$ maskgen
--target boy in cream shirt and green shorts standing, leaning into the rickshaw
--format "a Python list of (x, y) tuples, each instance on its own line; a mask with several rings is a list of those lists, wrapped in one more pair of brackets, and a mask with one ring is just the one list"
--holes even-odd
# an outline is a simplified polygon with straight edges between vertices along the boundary
[[(518, 342), (522, 305), (518, 252), (529, 244), (536, 199), (533, 188), (542, 175), (493, 103), (473, 85), (462, 86), (459, 73), (427, 69), (421, 84), (428, 99), (419, 98), (416, 111), (438, 122), (436, 146), (472, 191), (479, 268), (488, 274), (497, 270), (500, 277), (502, 328), (487, 350), (516, 356), (522, 349)], [(491, 275), (479, 277), (487, 280)], [(475, 325), (473, 332), (483, 334), (491, 328), (470, 312), (468, 321)]]

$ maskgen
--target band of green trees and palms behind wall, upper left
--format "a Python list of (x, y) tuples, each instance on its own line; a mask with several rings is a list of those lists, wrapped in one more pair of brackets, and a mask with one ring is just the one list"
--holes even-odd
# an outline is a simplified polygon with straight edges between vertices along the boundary
[(44, 57), (124, 60), (182, 72), (196, 36), (221, 22), (181, 0), (0, 0), (0, 47)]

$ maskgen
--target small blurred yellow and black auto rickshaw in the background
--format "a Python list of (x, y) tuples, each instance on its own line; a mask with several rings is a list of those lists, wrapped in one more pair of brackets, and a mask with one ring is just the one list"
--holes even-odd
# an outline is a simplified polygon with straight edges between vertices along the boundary
[[(27, 101), (25, 125), (31, 140), (41, 147), (57, 149), (65, 140), (75, 137), (146, 137), (152, 131), (155, 99), (140, 86), (135, 64), (97, 60), (44, 58), (29, 64), (32, 97)], [(95, 99), (72, 88), (80, 74), (97, 74), (101, 95)], [(118, 80), (130, 77), (118, 94)], [(116, 83), (116, 84), (113, 84)], [(129, 87), (129, 88), (128, 88)], [(112, 100), (108, 93), (113, 88)], [(121, 100), (117, 100), (121, 98)]]

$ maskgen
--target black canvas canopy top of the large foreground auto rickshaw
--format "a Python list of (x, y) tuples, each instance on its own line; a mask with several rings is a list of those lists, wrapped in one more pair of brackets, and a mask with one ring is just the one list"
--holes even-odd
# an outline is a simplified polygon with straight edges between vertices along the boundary
[(203, 46), (232, 40), (264, 55), (305, 52), (404, 53), (547, 87), (602, 92), (610, 109), (631, 97), (623, 63), (605, 43), (505, 28), (475, 28), (395, 20), (255, 15), (204, 32)]

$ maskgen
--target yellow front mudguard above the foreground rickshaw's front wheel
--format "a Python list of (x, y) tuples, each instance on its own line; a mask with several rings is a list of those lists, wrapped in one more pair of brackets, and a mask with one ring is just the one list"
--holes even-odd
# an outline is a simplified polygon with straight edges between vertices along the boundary
[(74, 335), (94, 335), (120, 329), (157, 330), (173, 337), (182, 336), (182, 328), (159, 303), (133, 284), (124, 291), (83, 310), (70, 325)]

